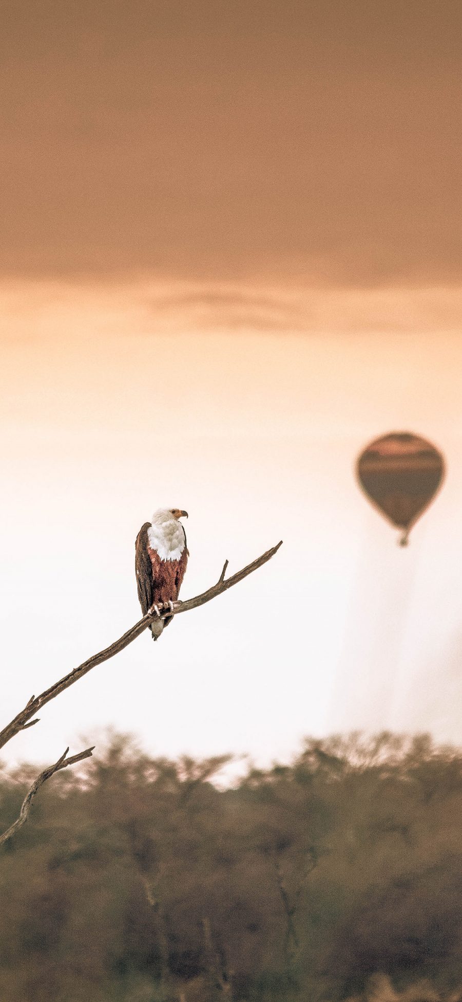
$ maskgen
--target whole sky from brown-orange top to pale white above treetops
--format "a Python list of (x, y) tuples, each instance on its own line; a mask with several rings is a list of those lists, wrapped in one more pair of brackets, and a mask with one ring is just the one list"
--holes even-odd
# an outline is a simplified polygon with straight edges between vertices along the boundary
[[(3, 761), (111, 726), (264, 763), (334, 730), (460, 742), (460, 5), (1, 21), (5, 722), (137, 620), (154, 509), (189, 512), (182, 597), (284, 541)], [(395, 430), (447, 461), (406, 550), (354, 477)]]

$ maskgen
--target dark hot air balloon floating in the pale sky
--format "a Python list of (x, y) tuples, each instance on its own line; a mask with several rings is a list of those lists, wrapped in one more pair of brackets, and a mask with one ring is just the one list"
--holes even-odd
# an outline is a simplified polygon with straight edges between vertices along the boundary
[(402, 529), (399, 542), (406, 546), (412, 526), (441, 487), (444, 459), (419, 435), (392, 432), (366, 446), (356, 473), (369, 501)]

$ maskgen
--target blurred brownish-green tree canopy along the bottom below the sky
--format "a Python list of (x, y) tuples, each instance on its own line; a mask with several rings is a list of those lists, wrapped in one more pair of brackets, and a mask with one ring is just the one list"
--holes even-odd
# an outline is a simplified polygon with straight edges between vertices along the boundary
[[(2, 850), (0, 998), (336, 1002), (379, 972), (397, 991), (462, 985), (462, 752), (310, 739), (232, 789), (213, 783), (224, 762), (116, 737), (84, 779), (44, 788)], [(3, 828), (28, 780), (0, 775)]]

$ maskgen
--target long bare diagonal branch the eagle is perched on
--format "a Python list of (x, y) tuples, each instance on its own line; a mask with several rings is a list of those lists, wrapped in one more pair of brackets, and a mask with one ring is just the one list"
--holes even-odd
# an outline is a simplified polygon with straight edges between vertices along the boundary
[[(257, 570), (259, 567), (262, 567), (263, 564), (267, 563), (268, 560), (271, 560), (271, 557), (277, 553), (281, 545), (282, 540), (277, 544), (277, 546), (273, 546), (272, 549), (267, 550), (266, 553), (262, 553), (262, 555), (257, 557), (256, 560), (253, 560), (252, 563), (247, 564), (246, 567), (243, 567), (242, 570), (237, 571), (236, 574), (232, 574), (231, 577), (228, 577), (227, 579), (225, 579), (224, 576), (228, 566), (228, 561), (226, 560), (216, 584), (212, 585), (211, 588), (208, 588), (207, 591), (203, 591), (202, 594), (196, 595), (194, 598), (188, 598), (185, 602), (173, 602), (173, 609), (171, 609), (170, 606), (164, 607), (160, 613), (161, 618), (165, 619), (166, 616), (171, 616), (172, 612), (175, 615), (178, 615), (180, 612), (189, 612), (190, 609), (196, 609), (199, 605), (204, 605), (205, 602), (210, 602), (212, 598), (216, 598), (217, 595), (221, 595), (222, 592), (227, 591), (228, 588), (232, 588), (234, 584), (238, 584), (239, 581), (242, 581), (248, 574), (252, 574), (254, 570)], [(17, 713), (13, 720), (11, 720), (2, 731), (0, 731), (0, 747), (3, 747), (4, 744), (11, 740), (11, 738), (14, 737), (15, 734), (19, 733), (20, 730), (24, 730), (25, 727), (30, 726), (31, 724), (29, 721), (31, 720), (31, 717), (35, 716), (37, 711), (41, 709), (45, 703), (50, 702), (50, 699), (54, 699), (55, 696), (59, 695), (60, 692), (63, 692), (64, 689), (69, 688), (69, 686), (73, 685), (74, 682), (83, 678), (83, 676), (86, 675), (88, 671), (91, 671), (92, 668), (95, 668), (98, 664), (102, 664), (103, 661), (108, 661), (110, 657), (114, 657), (114, 655), (118, 654), (124, 649), (124, 647), (128, 647), (128, 644), (132, 643), (133, 640), (136, 640), (136, 637), (140, 636), (140, 634), (149, 626), (155, 614), (156, 613), (154, 611), (149, 610), (142, 619), (135, 623), (134, 626), (131, 626), (131, 628), (127, 630), (123, 636), (121, 636), (118, 640), (115, 640), (114, 643), (111, 643), (109, 647), (106, 647), (104, 650), (100, 650), (98, 654), (93, 654), (92, 657), (83, 661), (83, 663), (79, 664), (78, 667), (73, 668), (73, 670), (67, 675), (64, 675), (64, 678), (61, 678), (49, 688), (45, 689), (45, 691), (37, 697), (31, 696), (24, 709)], [(71, 760), (68, 760), (65, 765), (69, 765), (70, 762)], [(55, 767), (53, 767), (53, 769), (56, 772)], [(44, 780), (41, 782), (43, 783)]]

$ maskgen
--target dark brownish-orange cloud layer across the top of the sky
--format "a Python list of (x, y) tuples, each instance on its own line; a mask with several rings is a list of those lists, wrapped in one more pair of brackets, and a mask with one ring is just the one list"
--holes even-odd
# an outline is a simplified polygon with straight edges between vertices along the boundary
[(460, 279), (459, 0), (5, 0), (0, 268)]

